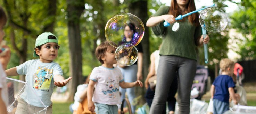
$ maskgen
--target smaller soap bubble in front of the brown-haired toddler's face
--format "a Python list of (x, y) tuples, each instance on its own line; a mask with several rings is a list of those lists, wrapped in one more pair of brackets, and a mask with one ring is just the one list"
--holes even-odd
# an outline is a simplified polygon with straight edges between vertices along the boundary
[(123, 66), (131, 66), (138, 59), (138, 50), (132, 44), (129, 44), (129, 43), (121, 44), (116, 48), (115, 57), (119, 64)]

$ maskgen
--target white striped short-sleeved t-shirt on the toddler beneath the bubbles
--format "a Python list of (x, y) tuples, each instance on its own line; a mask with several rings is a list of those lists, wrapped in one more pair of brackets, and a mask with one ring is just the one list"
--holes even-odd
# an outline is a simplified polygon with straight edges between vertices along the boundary
[(121, 70), (117, 67), (95, 67), (90, 80), (96, 82), (92, 101), (108, 105), (122, 104), (120, 100), (119, 82), (123, 82)]

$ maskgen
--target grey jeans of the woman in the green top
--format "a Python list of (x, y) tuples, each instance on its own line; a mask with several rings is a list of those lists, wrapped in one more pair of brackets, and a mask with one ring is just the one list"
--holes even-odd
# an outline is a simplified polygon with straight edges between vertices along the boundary
[(196, 74), (196, 60), (178, 56), (160, 56), (157, 84), (150, 114), (163, 112), (171, 83), (178, 74), (179, 114), (189, 114), (190, 91)]

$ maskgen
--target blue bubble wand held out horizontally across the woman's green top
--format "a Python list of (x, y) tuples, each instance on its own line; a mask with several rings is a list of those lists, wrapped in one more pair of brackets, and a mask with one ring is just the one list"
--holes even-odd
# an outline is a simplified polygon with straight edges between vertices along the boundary
[[(195, 11), (189, 12), (189, 13), (184, 14), (184, 15), (179, 15), (178, 17), (175, 18), (175, 20), (181, 20), (181, 19), (183, 19), (183, 17), (189, 16), (189, 15), (191, 15), (191, 14), (193, 14), (193, 13), (196, 13), (196, 12), (198, 12), (198, 11), (201, 11), (201, 10), (203, 10), (203, 9), (206, 9), (206, 8), (208, 8), (208, 7), (213, 7), (213, 6), (215, 6), (215, 4), (213, 4), (213, 5), (211, 5), (211, 6), (207, 6), (207, 7), (201, 8), (201, 9), (199, 9), (199, 10), (195, 10)], [(176, 22), (176, 23), (177, 23), (177, 22)], [(176, 23), (174, 23), (174, 24), (176, 24)], [(168, 26), (170, 26), (170, 23), (168, 23), (167, 21), (165, 21), (165, 22), (164, 22), (164, 26), (165, 26), (165, 27), (168, 27)], [(179, 29), (179, 23), (177, 23), (177, 24), (175, 25), (175, 27), (176, 27), (177, 29), (175, 29), (174, 26), (173, 26), (172, 29), (173, 29), (173, 31), (176, 32), (176, 31)]]

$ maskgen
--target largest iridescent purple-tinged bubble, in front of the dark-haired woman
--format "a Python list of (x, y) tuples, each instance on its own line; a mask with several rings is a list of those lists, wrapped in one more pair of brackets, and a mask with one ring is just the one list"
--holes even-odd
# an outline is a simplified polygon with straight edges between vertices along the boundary
[(105, 27), (107, 41), (113, 47), (130, 43), (137, 46), (144, 36), (142, 21), (131, 13), (119, 13), (110, 18)]

